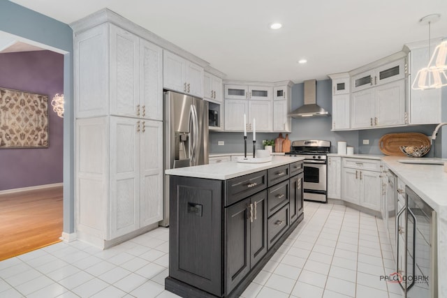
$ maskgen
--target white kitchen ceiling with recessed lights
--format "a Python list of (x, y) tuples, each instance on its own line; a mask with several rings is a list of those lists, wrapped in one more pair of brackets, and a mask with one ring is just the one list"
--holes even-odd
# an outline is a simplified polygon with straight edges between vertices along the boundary
[[(431, 36), (447, 37), (446, 0), (13, 0), (70, 24), (109, 8), (209, 62), (231, 80), (328, 79), (428, 39), (421, 17), (441, 14)], [(273, 31), (272, 22), (283, 28)], [(307, 64), (298, 64), (307, 59)]]

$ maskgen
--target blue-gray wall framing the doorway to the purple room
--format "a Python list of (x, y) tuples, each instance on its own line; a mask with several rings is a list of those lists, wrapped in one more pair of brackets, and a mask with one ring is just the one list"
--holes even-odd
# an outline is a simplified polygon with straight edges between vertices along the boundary
[(64, 52), (64, 232), (74, 232), (73, 30), (10, 1), (0, 1), (0, 30)]

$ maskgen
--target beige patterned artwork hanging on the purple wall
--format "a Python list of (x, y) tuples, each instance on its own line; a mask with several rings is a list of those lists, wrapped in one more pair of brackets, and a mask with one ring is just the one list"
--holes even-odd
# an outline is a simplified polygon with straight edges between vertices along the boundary
[(0, 88), (0, 149), (48, 147), (48, 96)]

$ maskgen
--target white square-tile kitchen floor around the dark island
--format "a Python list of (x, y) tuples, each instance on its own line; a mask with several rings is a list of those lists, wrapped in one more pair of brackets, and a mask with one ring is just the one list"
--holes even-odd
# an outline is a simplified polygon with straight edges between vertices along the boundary
[[(305, 219), (242, 297), (401, 297), (383, 221), (337, 205), (305, 202)], [(164, 290), (168, 229), (106, 251), (59, 243), (0, 262), (0, 297), (177, 297)]]

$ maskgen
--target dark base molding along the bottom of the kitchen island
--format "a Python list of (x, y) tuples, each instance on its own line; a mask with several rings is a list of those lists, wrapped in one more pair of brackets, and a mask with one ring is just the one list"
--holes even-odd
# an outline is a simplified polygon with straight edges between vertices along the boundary
[[(263, 267), (267, 264), (267, 262), (272, 258), (274, 253), (278, 251), (278, 248), (286, 241), (288, 236), (295, 231), (295, 228), (302, 222), (304, 219), (304, 213), (300, 214), (298, 219), (291, 224), (291, 227), (281, 236), (280, 239), (268, 250), (262, 260), (256, 264), (253, 269), (247, 274), (247, 276), (242, 280), (228, 295), (223, 295), (222, 297), (240, 297), (242, 292), (248, 287), (251, 281), (258, 275), (258, 273), (263, 269)], [(175, 278), (168, 276), (165, 278), (165, 290), (169, 292), (173, 292), (175, 295), (179, 295), (180, 297), (188, 297), (188, 298), (205, 298), (205, 297), (219, 297), (216, 295), (212, 295), (208, 292), (200, 290), (196, 287), (193, 287), (187, 283), (183, 283)]]

